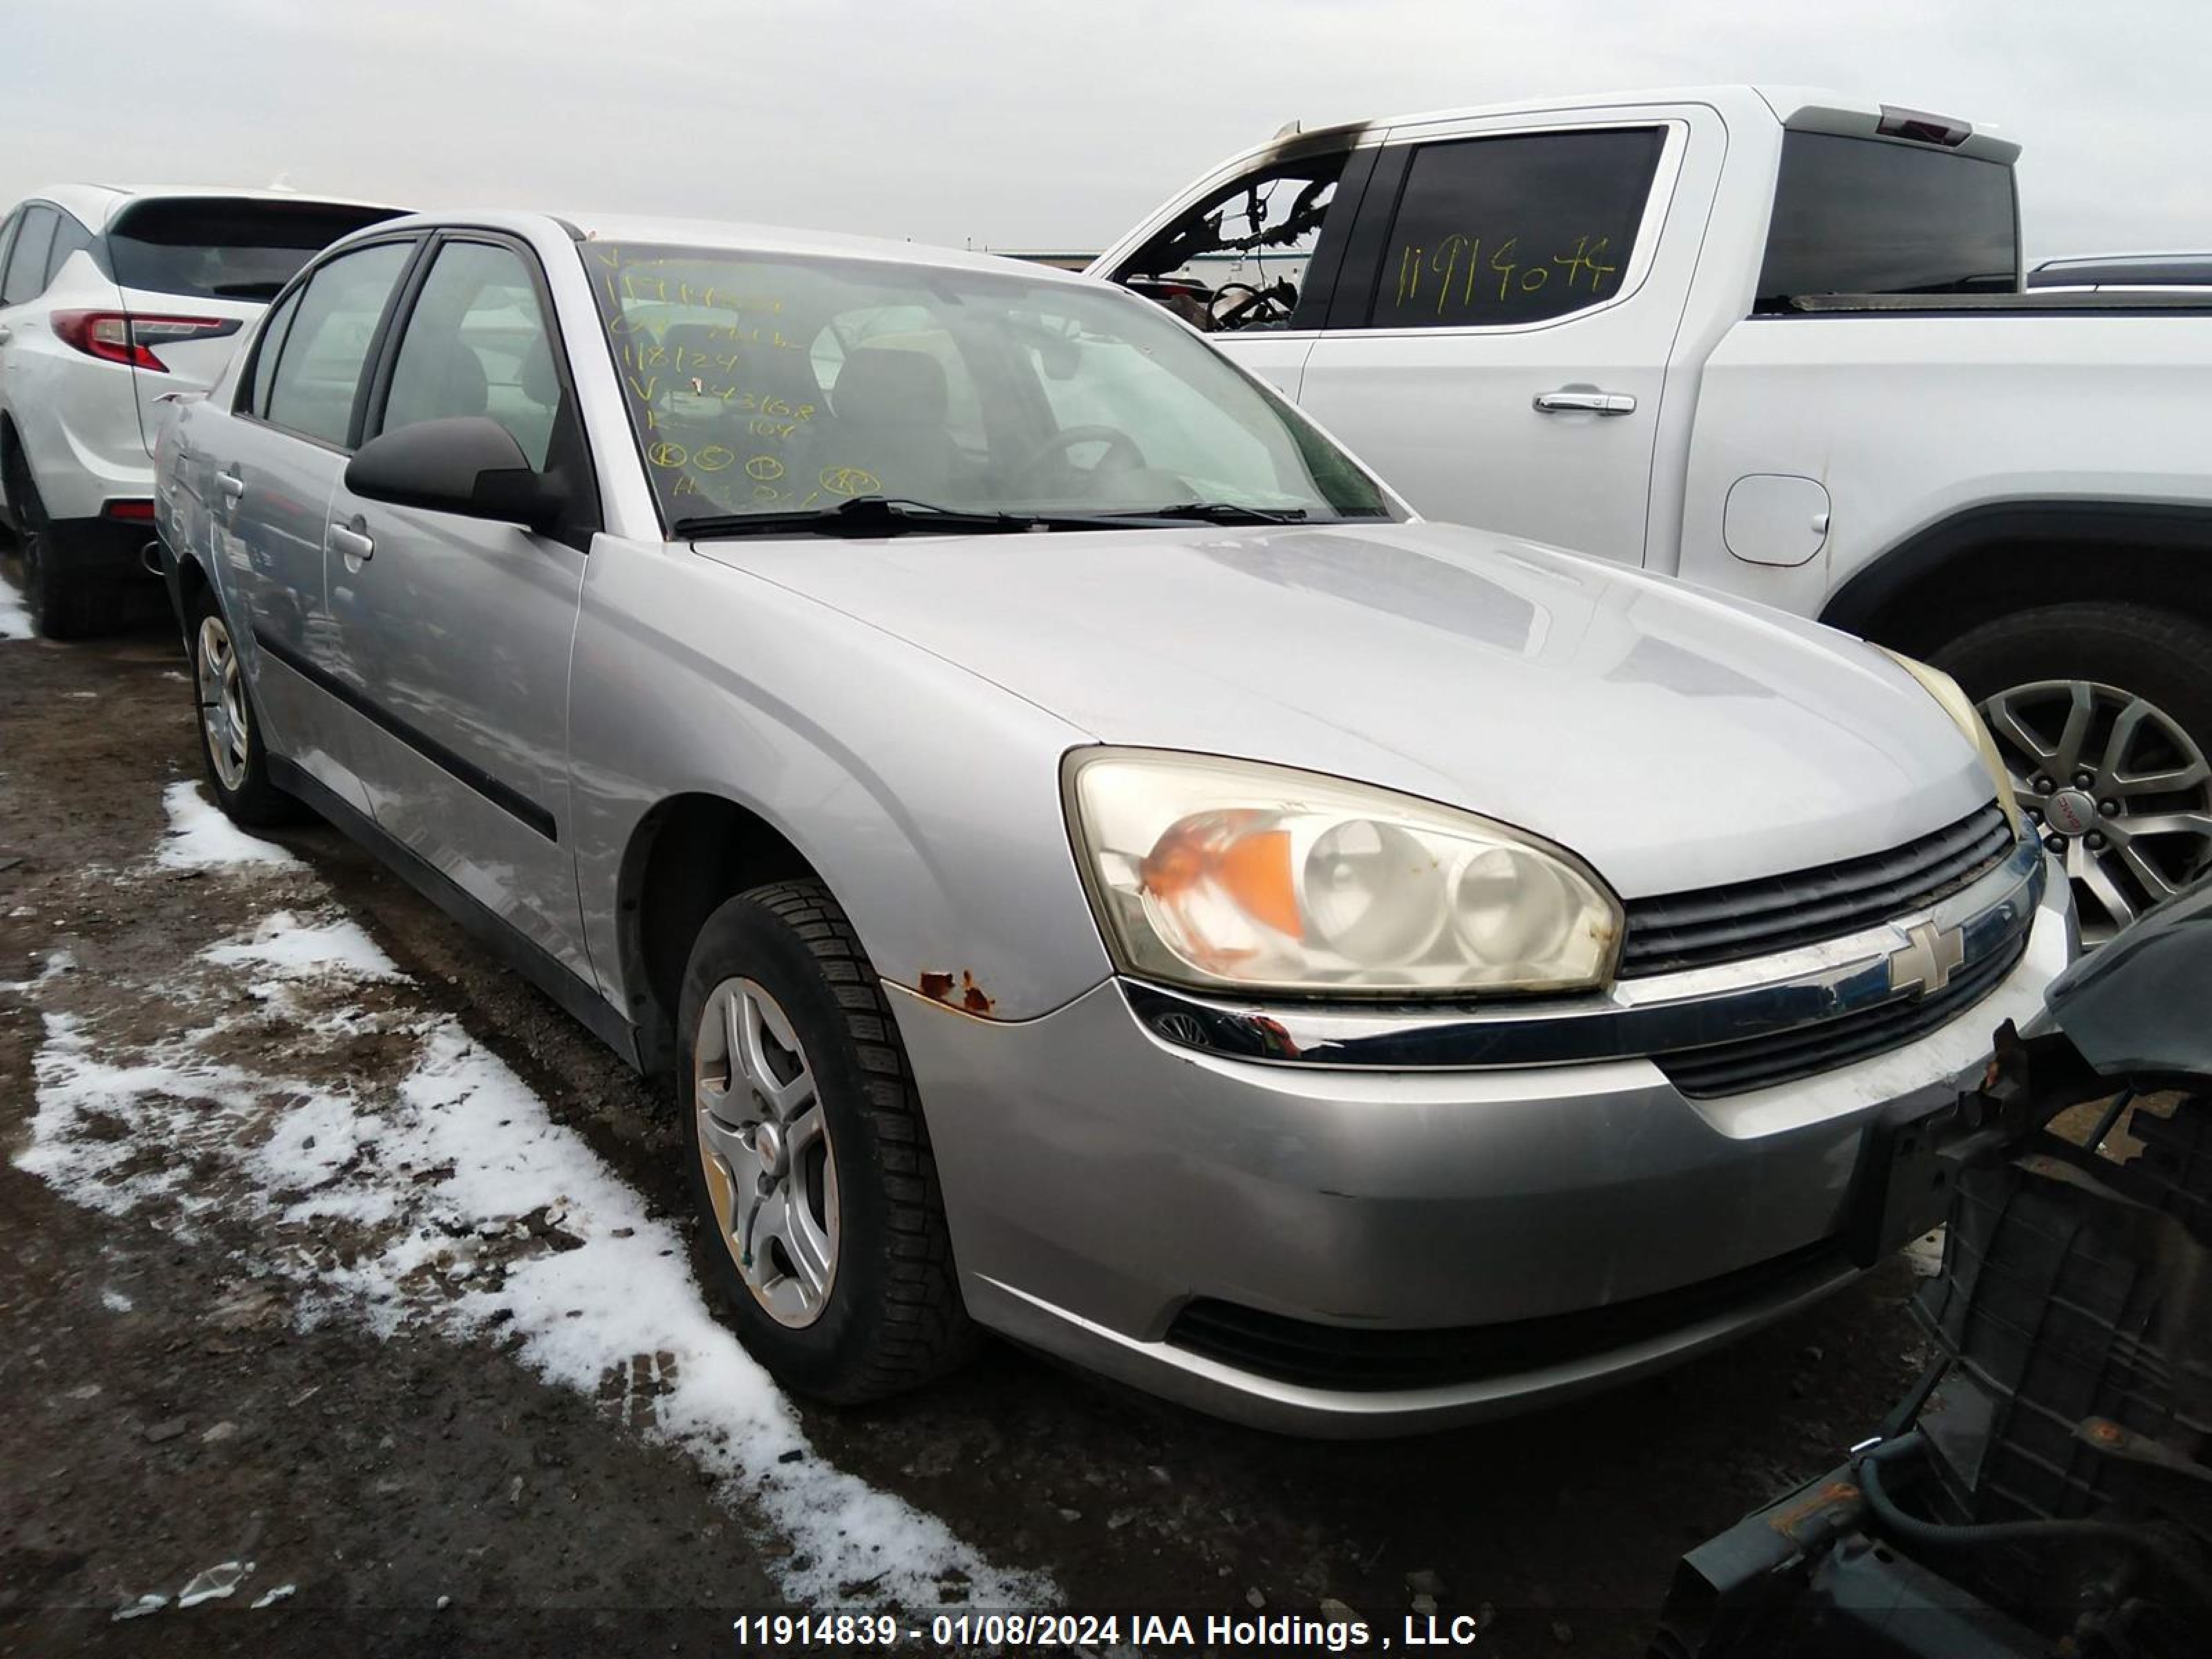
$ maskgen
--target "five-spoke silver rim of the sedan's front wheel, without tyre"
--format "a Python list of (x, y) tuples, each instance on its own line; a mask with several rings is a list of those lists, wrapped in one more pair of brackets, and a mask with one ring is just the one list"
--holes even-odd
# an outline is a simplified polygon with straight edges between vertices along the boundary
[(812, 1325), (836, 1285), (836, 1159), (814, 1068), (754, 980), (708, 993), (692, 1104), (714, 1225), (739, 1279), (779, 1325)]

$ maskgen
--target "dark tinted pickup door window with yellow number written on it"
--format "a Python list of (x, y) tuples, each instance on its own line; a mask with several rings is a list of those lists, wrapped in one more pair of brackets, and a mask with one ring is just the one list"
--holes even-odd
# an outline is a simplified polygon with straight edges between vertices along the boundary
[(1663, 148), (1657, 126), (1420, 146), (1367, 327), (1511, 327), (1619, 296)]

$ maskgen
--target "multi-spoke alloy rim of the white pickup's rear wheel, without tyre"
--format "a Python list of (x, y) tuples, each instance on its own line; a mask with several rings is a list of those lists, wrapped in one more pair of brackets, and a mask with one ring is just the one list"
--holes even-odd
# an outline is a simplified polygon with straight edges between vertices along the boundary
[(2037, 679), (1982, 703), (2013, 799), (2073, 880), (2081, 942), (2104, 945), (2212, 867), (2212, 765), (2157, 703)]

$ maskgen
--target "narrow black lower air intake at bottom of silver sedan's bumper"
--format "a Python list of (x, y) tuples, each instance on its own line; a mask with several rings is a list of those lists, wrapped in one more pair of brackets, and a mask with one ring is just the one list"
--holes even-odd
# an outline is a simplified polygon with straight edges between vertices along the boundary
[(1761, 1303), (1809, 1296), (1849, 1272), (1834, 1243), (1774, 1256), (1719, 1279), (1575, 1314), (1444, 1329), (1358, 1329), (1199, 1298), (1168, 1327), (1168, 1345), (1252, 1376), (1374, 1394), (1482, 1383), (1644, 1343)]

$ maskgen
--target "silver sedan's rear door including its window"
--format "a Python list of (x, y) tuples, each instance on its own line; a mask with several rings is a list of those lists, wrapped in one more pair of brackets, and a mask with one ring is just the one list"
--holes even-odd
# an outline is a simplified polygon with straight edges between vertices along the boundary
[(367, 367), (418, 239), (352, 248), (319, 265), (261, 330), (232, 418), (204, 445), (210, 538), (234, 633), (252, 639), (254, 697), (272, 748), (356, 812), (361, 717), (334, 695), (323, 542), (330, 495), (358, 431)]

